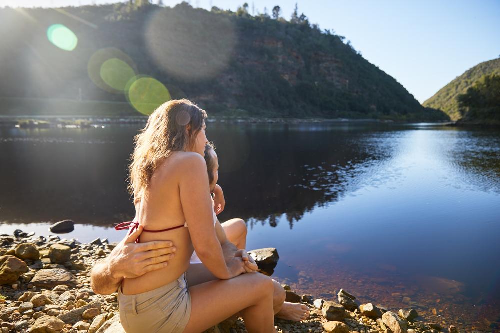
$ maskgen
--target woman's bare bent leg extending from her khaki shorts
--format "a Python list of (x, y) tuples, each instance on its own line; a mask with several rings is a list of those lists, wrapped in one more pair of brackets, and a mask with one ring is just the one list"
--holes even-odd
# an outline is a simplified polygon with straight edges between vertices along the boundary
[[(189, 282), (188, 282), (189, 283)], [(275, 332), (273, 282), (259, 273), (189, 286), (191, 316), (184, 332), (201, 332), (239, 312), (249, 333)]]

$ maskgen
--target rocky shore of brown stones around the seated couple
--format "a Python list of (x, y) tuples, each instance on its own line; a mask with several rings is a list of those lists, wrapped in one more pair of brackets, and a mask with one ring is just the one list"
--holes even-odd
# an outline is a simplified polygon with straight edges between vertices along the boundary
[[(106, 239), (82, 244), (58, 236), (35, 236), (14, 231), (0, 235), (0, 333), (7, 332), (123, 332), (117, 294), (96, 295), (90, 288), (90, 269), (114, 248)], [(258, 262), (277, 260), (272, 249), (255, 250)], [(274, 257), (273, 257), (274, 256)], [(283, 285), (286, 299), (311, 307), (302, 322), (276, 319), (278, 332), (314, 333), (437, 333), (461, 332), (454, 326), (419, 320), (415, 309), (388, 309), (359, 304), (340, 289), (337, 299), (298, 295)], [(241, 319), (226, 320), (208, 332), (245, 332)]]

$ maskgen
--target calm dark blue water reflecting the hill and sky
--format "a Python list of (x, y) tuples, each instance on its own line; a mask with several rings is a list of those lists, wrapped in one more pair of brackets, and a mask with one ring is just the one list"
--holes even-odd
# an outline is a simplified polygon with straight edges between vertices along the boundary
[[(46, 235), (71, 218), (67, 238), (121, 239), (111, 227), (134, 215), (125, 180), (138, 129), (0, 127), (1, 232)], [(500, 132), (209, 124), (207, 136), (227, 200), (219, 219), (244, 218), (248, 248), (278, 249), (279, 281), (499, 329)]]

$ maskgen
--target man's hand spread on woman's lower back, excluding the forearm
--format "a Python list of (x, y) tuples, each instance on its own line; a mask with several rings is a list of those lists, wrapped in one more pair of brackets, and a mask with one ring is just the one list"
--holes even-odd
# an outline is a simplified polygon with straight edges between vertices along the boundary
[(139, 227), (122, 240), (109, 254), (110, 271), (115, 278), (134, 278), (164, 268), (176, 248), (169, 240), (155, 240), (136, 244), (144, 227)]

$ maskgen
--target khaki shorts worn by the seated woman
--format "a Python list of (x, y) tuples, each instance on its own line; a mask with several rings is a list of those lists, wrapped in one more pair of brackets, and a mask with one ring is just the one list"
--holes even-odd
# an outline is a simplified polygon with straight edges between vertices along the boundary
[(118, 290), (121, 325), (127, 333), (182, 332), (191, 315), (185, 273), (157, 289), (124, 295)]

